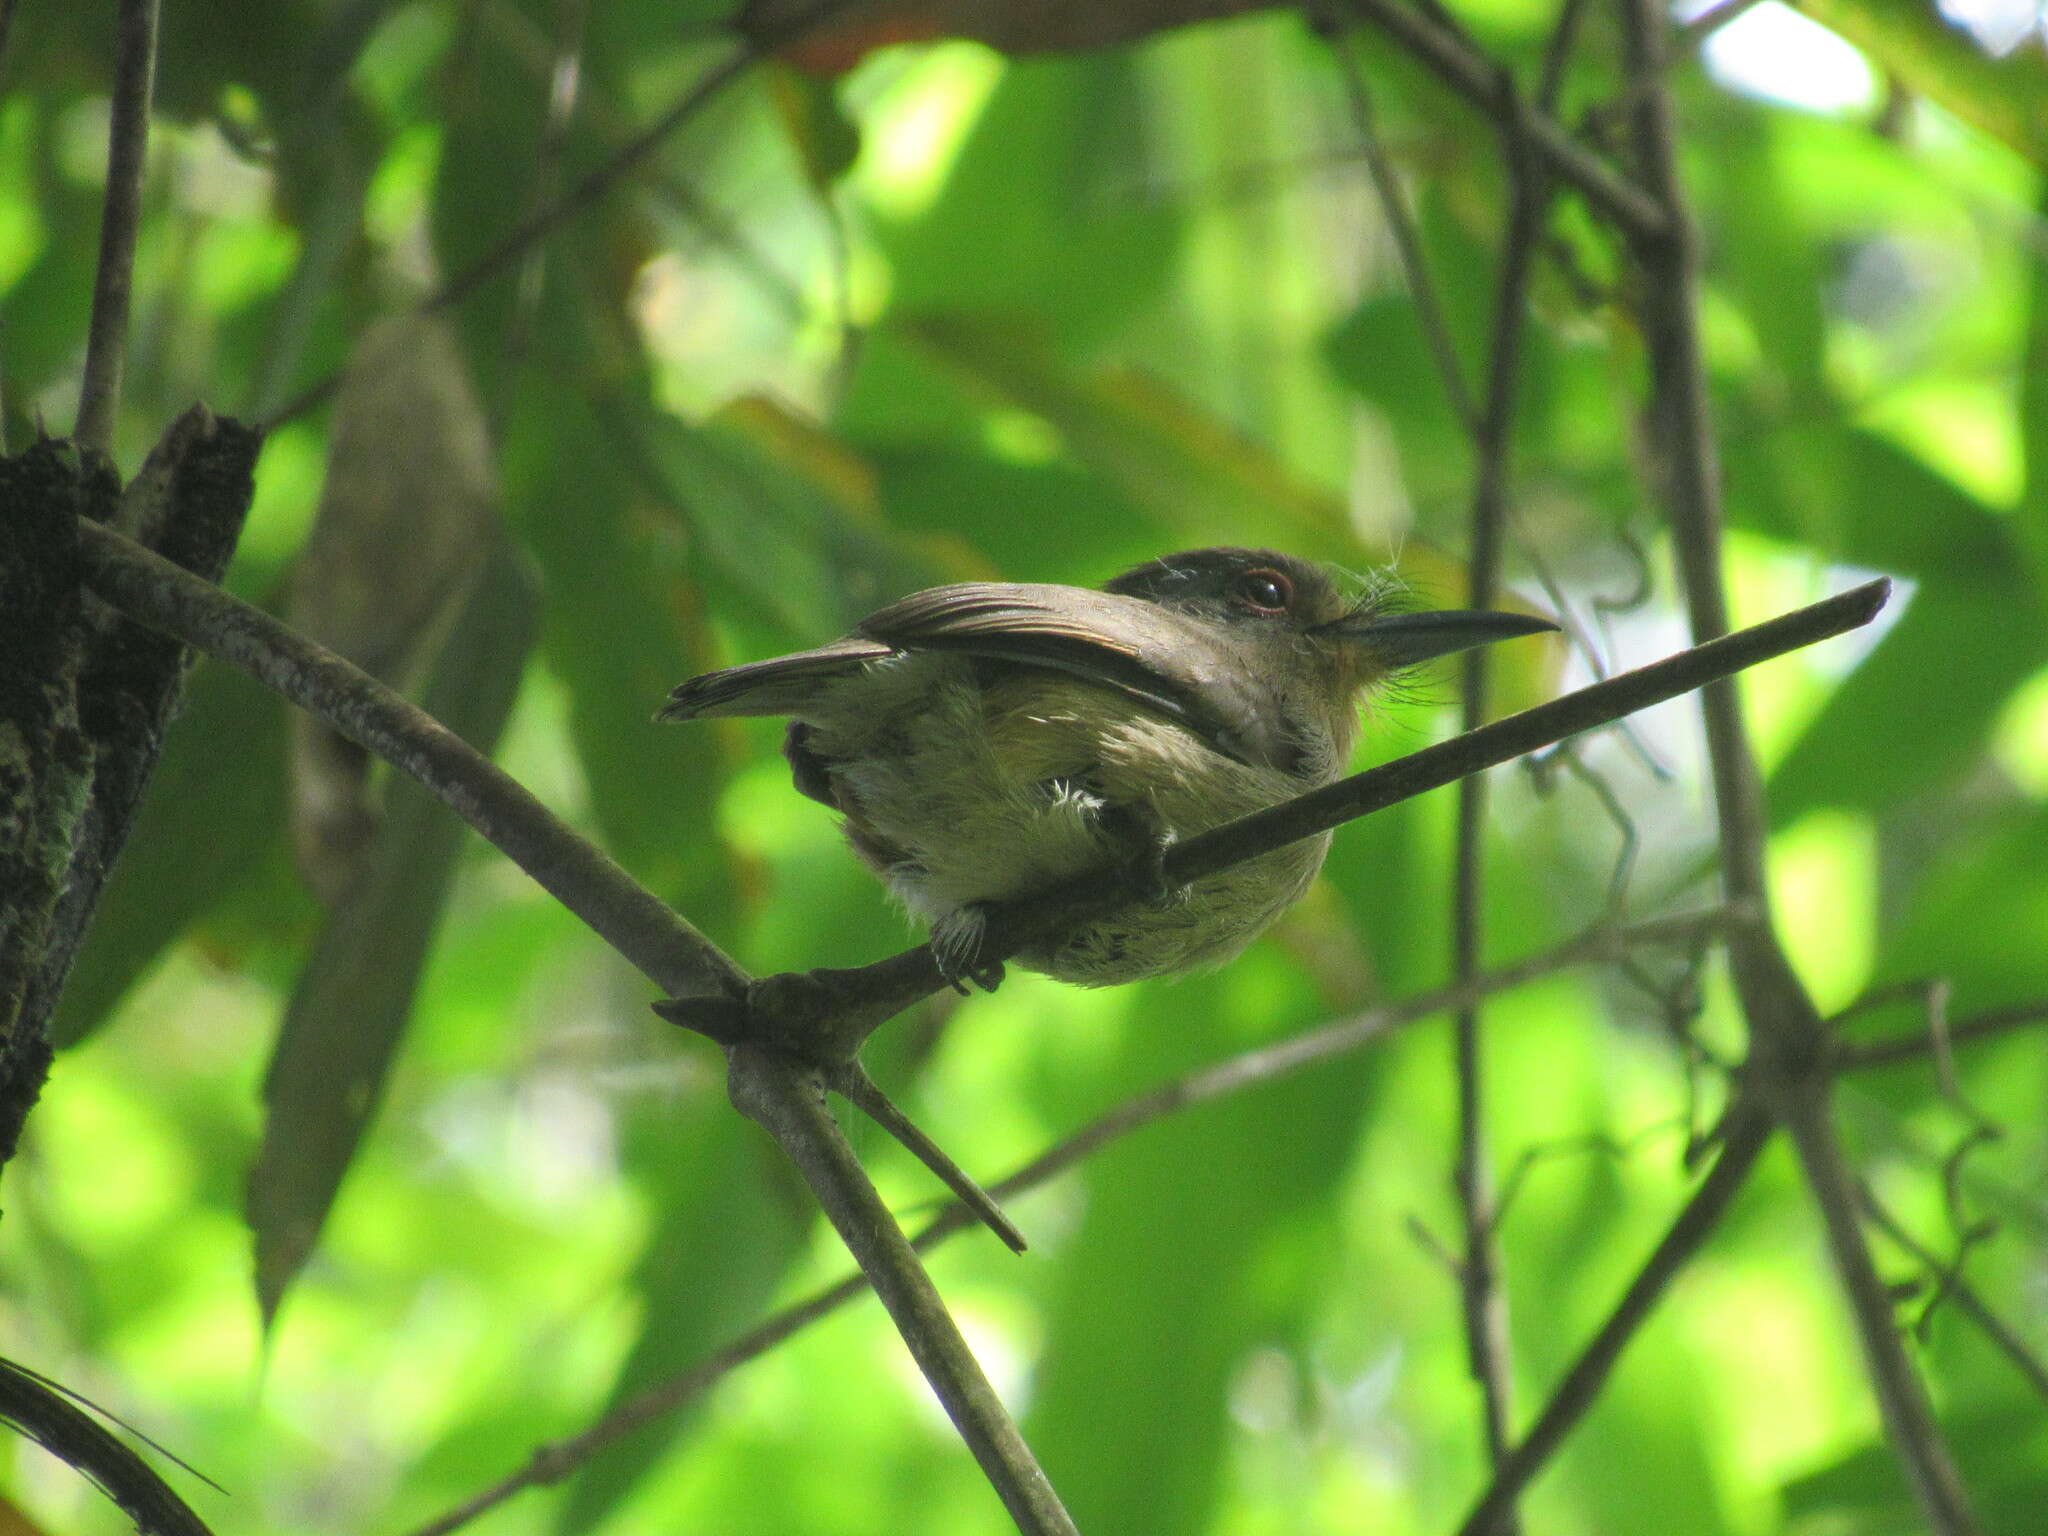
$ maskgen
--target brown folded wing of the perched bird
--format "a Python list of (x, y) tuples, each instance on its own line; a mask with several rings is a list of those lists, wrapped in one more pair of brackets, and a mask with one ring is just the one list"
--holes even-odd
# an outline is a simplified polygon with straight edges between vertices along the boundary
[(1268, 756), (1264, 743), (1239, 729), (1264, 709), (1243, 698), (1223, 647), (1202, 625), (1143, 598), (1075, 586), (965, 582), (911, 592), (862, 618), (856, 635), (903, 651), (954, 651), (1065, 672), (1137, 698), (1231, 758)]

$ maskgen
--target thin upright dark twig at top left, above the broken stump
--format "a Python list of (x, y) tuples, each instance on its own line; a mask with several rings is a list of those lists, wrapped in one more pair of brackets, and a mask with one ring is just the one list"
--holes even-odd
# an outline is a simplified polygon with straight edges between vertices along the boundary
[(86, 371), (78, 385), (78, 440), (106, 453), (121, 410), (129, 291), (135, 281), (135, 231), (150, 168), (150, 98), (156, 90), (158, 0), (121, 0), (115, 31), (115, 96), (106, 125), (106, 195), (100, 211), (100, 264), (92, 276)]

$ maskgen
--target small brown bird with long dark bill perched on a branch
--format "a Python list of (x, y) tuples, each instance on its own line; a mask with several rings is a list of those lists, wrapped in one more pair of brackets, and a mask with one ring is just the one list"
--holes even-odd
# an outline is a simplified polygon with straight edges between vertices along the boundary
[(1272, 549), (1188, 549), (1100, 590), (963, 582), (844, 639), (680, 684), (662, 721), (786, 717), (795, 788), (930, 928), (940, 973), (993, 987), (987, 905), (1085, 870), (1139, 899), (1012, 958), (1081, 987), (1231, 961), (1315, 881), (1329, 834), (1182, 889), (1184, 838), (1339, 778), (1360, 709), (1405, 668), (1546, 618), (1413, 610), (1391, 578)]

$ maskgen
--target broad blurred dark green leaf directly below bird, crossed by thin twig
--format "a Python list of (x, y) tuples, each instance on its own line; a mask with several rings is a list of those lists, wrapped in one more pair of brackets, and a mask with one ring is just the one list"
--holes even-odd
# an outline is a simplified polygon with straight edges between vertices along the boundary
[[(1300, 977), (1270, 954), (1262, 979), (1260, 1028), (1313, 1018)], [(1135, 1018), (1118, 1075), (1149, 1081), (1219, 1055), (1249, 1022), (1233, 1018), (1231, 993), (1229, 977), (1155, 991), (1171, 1024)], [(1313, 1255), (1327, 1253), (1298, 1243), (1300, 1223), (1343, 1171), (1366, 1079), (1358, 1061), (1339, 1063), (1155, 1124), (1090, 1163), (1024, 1425), (1081, 1530), (1210, 1528), (1233, 1376), (1294, 1315)]]

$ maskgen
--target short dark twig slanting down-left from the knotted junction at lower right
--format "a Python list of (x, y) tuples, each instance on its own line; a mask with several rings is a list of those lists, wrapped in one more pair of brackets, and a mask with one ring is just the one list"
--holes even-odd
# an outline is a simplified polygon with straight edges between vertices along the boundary
[(1636, 1335), (1649, 1315), (1657, 1309), (1663, 1292), (1677, 1278), (1679, 1270), (1698, 1253), (1706, 1239), (1720, 1225), (1737, 1192), (1749, 1180), (1757, 1157), (1772, 1137), (1772, 1120), (1753, 1104), (1737, 1102), (1729, 1112), (1726, 1135), (1714, 1167), (1694, 1190), (1686, 1208), (1679, 1210), (1663, 1241), (1651, 1251), (1636, 1278), (1628, 1282), (1622, 1298), (1608, 1313), (1593, 1337), (1587, 1341), (1571, 1370), (1559, 1380), (1550, 1401), (1544, 1403), (1536, 1423), (1507, 1458), (1493, 1470), (1493, 1483), (1473, 1505), (1473, 1511), (1458, 1526), (1458, 1536), (1497, 1536), (1513, 1509), (1520, 1493), (1544, 1468), (1565, 1436), (1585, 1417), (1593, 1399), (1599, 1397), (1608, 1374), (1622, 1358), (1622, 1350)]

